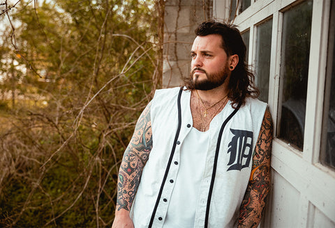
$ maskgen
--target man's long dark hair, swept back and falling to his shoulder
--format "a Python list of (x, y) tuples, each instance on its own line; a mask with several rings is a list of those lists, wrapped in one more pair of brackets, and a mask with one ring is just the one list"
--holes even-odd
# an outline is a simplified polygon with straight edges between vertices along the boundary
[[(206, 36), (211, 34), (221, 35), (222, 48), (229, 56), (237, 54), (239, 56), (239, 63), (230, 75), (228, 84), (228, 98), (232, 100), (232, 106), (246, 103), (246, 97), (256, 98), (260, 95), (260, 91), (255, 87), (255, 76), (251, 70), (248, 69), (246, 63), (246, 44), (244, 44), (241, 33), (233, 24), (223, 24), (220, 22), (202, 22), (195, 29), (195, 35)], [(185, 81), (186, 88), (193, 89), (188, 81)]]

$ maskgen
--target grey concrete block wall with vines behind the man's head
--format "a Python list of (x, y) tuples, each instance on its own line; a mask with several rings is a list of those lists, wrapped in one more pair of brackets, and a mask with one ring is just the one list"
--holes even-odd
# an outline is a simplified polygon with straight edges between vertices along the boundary
[(211, 4), (211, 0), (165, 1), (163, 88), (181, 86), (189, 76), (194, 30), (211, 18)]

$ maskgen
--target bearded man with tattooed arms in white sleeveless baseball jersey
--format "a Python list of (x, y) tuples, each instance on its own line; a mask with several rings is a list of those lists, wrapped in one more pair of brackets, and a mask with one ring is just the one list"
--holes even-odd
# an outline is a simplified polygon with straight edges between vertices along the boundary
[(255, 98), (239, 31), (204, 22), (195, 34), (185, 87), (156, 91), (136, 124), (119, 170), (113, 228), (260, 222), (271, 115)]

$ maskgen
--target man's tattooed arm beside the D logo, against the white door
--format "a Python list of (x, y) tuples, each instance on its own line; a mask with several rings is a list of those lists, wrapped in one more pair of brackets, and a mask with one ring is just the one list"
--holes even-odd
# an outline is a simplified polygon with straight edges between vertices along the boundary
[(258, 136), (248, 187), (239, 211), (238, 227), (258, 227), (270, 188), (272, 119), (265, 111)]

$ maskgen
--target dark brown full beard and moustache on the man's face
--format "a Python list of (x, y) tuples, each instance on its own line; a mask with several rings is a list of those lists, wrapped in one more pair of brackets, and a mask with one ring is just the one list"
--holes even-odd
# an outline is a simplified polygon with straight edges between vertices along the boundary
[[(193, 76), (195, 70), (204, 72), (204, 74), (206, 74), (206, 79), (199, 80), (199, 76)], [(228, 67), (225, 66), (223, 67), (223, 70), (212, 74), (207, 73), (200, 67), (195, 67), (192, 70), (190, 77), (190, 83), (195, 90), (212, 90), (225, 83), (225, 79), (228, 78)]]

